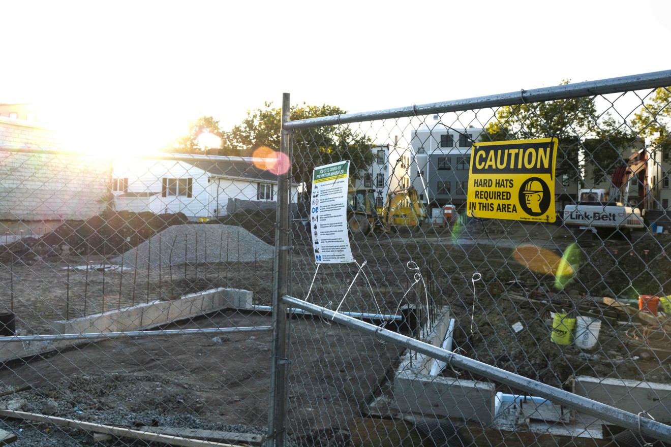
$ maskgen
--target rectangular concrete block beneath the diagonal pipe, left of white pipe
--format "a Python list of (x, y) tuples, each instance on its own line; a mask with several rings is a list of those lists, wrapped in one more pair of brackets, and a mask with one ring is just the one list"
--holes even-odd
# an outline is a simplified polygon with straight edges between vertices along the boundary
[(488, 426), (494, 420), (495, 386), (470, 380), (398, 373), (392, 406), (401, 413), (459, 418)]

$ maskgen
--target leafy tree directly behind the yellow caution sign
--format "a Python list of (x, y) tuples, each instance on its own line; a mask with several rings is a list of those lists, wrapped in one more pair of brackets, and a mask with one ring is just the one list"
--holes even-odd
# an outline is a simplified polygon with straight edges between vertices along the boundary
[[(562, 80), (560, 85), (570, 80)], [(484, 141), (549, 138), (559, 141), (556, 175), (578, 176), (591, 164), (592, 180), (607, 178), (637, 147), (636, 136), (611, 115), (599, 115), (594, 97), (504, 106), (485, 127)]]

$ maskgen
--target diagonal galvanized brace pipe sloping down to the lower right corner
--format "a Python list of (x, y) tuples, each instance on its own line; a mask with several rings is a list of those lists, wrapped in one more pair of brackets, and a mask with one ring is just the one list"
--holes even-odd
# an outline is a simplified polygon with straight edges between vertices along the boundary
[(587, 399), (586, 397), (575, 395), (574, 393), (564, 391), (563, 389), (551, 387), (545, 383), (540, 383), (527, 377), (510, 373), (509, 371), (505, 371), (503, 369), (493, 367), (492, 365), (487, 365), (486, 363), (469, 359), (468, 357), (464, 357), (462, 355), (450, 353), (450, 351), (433, 346), (432, 344), (414, 340), (413, 338), (397, 334), (391, 330), (386, 330), (384, 328), (362, 322), (361, 320), (356, 320), (356, 318), (352, 318), (350, 316), (338, 314), (337, 312), (333, 312), (332, 310), (317, 306), (316, 304), (311, 304), (291, 296), (282, 297), (282, 301), (291, 306), (307, 310), (307, 312), (310, 312), (311, 314), (321, 316), (321, 318), (326, 320), (335, 321), (339, 324), (343, 324), (344, 326), (359, 330), (360, 332), (372, 334), (377, 338), (393, 342), (399, 346), (405, 346), (405, 348), (409, 348), (411, 350), (417, 351), (418, 353), (428, 355), (429, 357), (433, 357), (433, 359), (442, 360), (448, 365), (452, 365), (453, 367), (462, 368), (466, 371), (470, 371), (471, 373), (476, 373), (482, 375), (483, 377), (487, 377), (488, 379), (492, 379), (493, 381), (503, 383), (504, 385), (509, 385), (515, 389), (520, 389), (522, 391), (526, 391), (527, 393), (531, 393), (532, 395), (544, 397), (555, 403), (561, 403), (562, 405), (566, 405), (566, 407), (581, 411), (582, 413), (588, 414), (589, 416), (594, 416), (595, 418), (612, 422), (613, 424), (623, 428), (629, 428), (630, 430), (634, 430), (636, 433), (639, 431), (640, 427), (640, 431), (643, 434), (653, 436), (659, 440), (671, 440), (671, 426), (666, 424), (662, 424), (648, 418), (639, 418), (637, 415), (629, 413), (628, 411), (623, 411), (621, 409), (611, 407), (610, 405), (605, 405), (605, 403), (600, 403), (591, 399)]

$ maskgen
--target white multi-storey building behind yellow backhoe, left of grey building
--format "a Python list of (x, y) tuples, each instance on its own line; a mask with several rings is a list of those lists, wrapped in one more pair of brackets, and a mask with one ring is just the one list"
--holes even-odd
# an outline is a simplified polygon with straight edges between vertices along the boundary
[(375, 145), (371, 148), (375, 159), (365, 172), (359, 173), (354, 188), (374, 188), (376, 206), (384, 206), (390, 191), (410, 186), (410, 163), (412, 153), (407, 147), (394, 144)]

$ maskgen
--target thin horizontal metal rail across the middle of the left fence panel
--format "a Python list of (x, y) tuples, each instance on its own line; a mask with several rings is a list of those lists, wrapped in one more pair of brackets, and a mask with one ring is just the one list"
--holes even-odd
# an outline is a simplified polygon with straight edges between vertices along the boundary
[(0, 337), (0, 342), (96, 340), (97, 338), (219, 334), (228, 332), (264, 332), (268, 330), (272, 330), (272, 326), (243, 326), (240, 328), (170, 329), (170, 330), (126, 330), (124, 332), (90, 332), (87, 334), (21, 335), (13, 337)]

